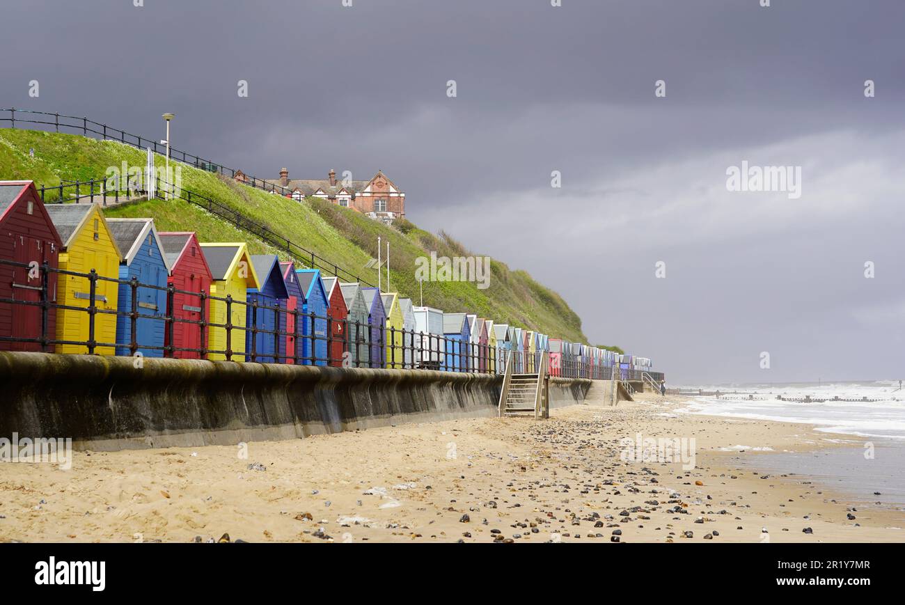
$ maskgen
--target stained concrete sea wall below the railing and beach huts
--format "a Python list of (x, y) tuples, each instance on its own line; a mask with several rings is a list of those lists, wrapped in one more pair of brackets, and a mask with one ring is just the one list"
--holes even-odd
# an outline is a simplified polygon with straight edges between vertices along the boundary
[[(231, 445), (341, 430), (495, 416), (502, 377), (0, 351), (0, 436), (74, 447)], [(584, 384), (587, 383), (587, 384)], [(590, 380), (551, 379), (551, 406)]]

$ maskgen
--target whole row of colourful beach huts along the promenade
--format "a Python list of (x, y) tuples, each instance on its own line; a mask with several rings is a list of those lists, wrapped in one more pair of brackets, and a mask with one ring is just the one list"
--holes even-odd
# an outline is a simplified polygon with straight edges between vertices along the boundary
[(32, 181), (0, 181), (0, 212), (0, 351), (489, 373), (502, 373), (506, 351), (514, 371), (537, 371), (548, 351), (553, 375), (652, 370), (647, 358), (415, 306), (242, 242), (158, 232), (97, 204), (45, 206)]

